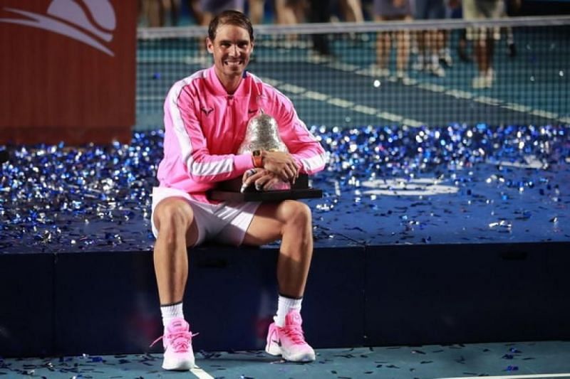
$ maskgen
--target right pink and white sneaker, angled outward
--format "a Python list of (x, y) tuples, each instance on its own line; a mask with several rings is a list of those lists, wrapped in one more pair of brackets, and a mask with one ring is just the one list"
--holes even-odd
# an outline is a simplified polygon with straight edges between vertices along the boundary
[(271, 356), (282, 356), (286, 361), (314, 361), (315, 351), (306, 343), (301, 324), (303, 319), (299, 311), (290, 311), (285, 317), (283, 328), (279, 328), (275, 323), (269, 325), (265, 351)]

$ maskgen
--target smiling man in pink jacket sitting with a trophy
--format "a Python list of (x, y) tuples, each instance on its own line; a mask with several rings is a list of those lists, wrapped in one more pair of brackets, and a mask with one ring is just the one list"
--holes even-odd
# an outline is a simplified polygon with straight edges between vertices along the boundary
[[(277, 181), (293, 183), (299, 173), (321, 171), (325, 151), (291, 101), (246, 72), (254, 35), (244, 14), (224, 11), (215, 17), (206, 43), (214, 65), (176, 82), (165, 100), (164, 158), (157, 172), (160, 186), (152, 191), (154, 265), (165, 328), (162, 367), (188, 370), (195, 365), (182, 299), (187, 247), (206, 240), (259, 246), (281, 239), (279, 301), (266, 351), (287, 361), (314, 361), (300, 314), (313, 251), (311, 210), (291, 200), (220, 203), (209, 200), (207, 191), (239, 176), (256, 188), (270, 188)], [(237, 154), (249, 119), (261, 111), (276, 119), (289, 152)]]

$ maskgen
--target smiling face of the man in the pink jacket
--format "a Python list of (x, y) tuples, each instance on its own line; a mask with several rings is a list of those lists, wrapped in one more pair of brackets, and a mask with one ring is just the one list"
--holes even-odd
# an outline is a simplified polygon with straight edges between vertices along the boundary
[(214, 40), (207, 38), (206, 44), (214, 56), (214, 70), (219, 81), (229, 93), (234, 92), (254, 50), (248, 31), (241, 26), (221, 24)]

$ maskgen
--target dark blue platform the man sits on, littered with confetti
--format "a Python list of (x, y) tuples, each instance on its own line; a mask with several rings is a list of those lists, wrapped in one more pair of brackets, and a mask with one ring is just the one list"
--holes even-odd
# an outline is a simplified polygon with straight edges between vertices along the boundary
[[(312, 180), (324, 197), (307, 201), (316, 348), (570, 338), (568, 127), (315, 132), (331, 152)], [(149, 351), (162, 329), (149, 225), (160, 139), (6, 146), (0, 356)], [(264, 346), (277, 249), (190, 252), (195, 349)]]

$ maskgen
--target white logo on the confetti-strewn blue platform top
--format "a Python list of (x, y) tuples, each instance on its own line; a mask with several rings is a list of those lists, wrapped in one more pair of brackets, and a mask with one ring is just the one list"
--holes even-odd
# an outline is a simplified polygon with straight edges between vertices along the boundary
[(420, 179), (375, 179), (363, 181), (363, 187), (373, 188), (363, 191), (366, 195), (388, 195), (388, 196), (432, 196), (443, 195), (445, 193), (456, 193), (459, 188), (455, 186), (444, 186), (435, 178)]

